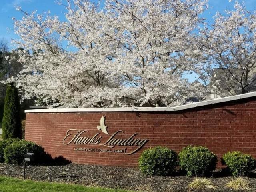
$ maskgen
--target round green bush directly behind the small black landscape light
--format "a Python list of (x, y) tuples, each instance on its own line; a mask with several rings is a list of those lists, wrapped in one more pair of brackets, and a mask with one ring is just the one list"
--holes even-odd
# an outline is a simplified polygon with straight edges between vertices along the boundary
[(44, 148), (34, 142), (19, 140), (9, 144), (4, 149), (4, 159), (9, 164), (22, 164), (24, 155), (28, 152), (34, 153), (35, 162), (40, 162), (44, 158)]

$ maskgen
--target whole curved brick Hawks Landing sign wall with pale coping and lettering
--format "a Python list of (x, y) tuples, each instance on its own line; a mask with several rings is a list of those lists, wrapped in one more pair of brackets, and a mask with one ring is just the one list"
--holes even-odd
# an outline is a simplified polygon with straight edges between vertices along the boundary
[[(26, 110), (25, 139), (73, 163), (137, 166), (141, 152), (208, 147), (256, 158), (256, 92), (173, 108)], [(218, 164), (220, 166), (220, 164)]]

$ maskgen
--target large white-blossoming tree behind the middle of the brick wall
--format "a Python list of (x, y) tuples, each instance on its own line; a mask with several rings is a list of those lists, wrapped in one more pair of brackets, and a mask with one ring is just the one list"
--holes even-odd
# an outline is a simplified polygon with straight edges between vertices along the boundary
[(104, 10), (67, 3), (64, 22), (22, 10), (14, 20), (24, 69), (7, 82), (24, 98), (50, 107), (171, 106), (203, 92), (184, 73), (204, 67), (206, 0), (106, 0)]

